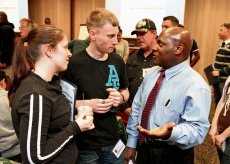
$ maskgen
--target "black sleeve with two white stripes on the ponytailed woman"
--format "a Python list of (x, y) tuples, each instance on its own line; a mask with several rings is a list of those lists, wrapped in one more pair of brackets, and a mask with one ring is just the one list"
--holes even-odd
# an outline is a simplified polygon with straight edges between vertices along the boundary
[(52, 103), (42, 95), (25, 96), (17, 107), (20, 115), (19, 140), (25, 163), (46, 163), (80, 132), (77, 123), (50, 137), (48, 135)]

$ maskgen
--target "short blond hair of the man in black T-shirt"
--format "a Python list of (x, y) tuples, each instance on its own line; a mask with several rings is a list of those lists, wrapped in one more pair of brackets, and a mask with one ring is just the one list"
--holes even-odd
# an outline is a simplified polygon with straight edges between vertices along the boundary
[(117, 17), (109, 10), (99, 8), (90, 12), (86, 19), (88, 31), (92, 27), (102, 28), (106, 23), (111, 23), (112, 26), (119, 26)]

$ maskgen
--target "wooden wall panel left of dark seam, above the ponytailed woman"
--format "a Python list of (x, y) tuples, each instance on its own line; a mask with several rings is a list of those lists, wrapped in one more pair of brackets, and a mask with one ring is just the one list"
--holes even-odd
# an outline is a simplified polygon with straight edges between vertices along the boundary
[(37, 24), (44, 24), (50, 17), (51, 23), (64, 30), (70, 39), (70, 0), (28, 0), (29, 18)]

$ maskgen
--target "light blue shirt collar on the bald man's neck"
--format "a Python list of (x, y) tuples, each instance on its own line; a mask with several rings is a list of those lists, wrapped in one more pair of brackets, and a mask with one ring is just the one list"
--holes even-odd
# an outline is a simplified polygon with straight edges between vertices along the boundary
[(185, 68), (189, 67), (188, 60), (183, 61), (180, 64), (177, 64), (169, 69), (166, 69), (165, 71), (165, 80), (168, 81), (173, 76), (179, 74), (182, 72)]

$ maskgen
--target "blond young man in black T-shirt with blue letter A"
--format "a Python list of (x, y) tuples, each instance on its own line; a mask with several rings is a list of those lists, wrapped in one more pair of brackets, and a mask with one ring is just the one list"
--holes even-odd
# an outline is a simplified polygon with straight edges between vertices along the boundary
[(116, 109), (129, 97), (123, 59), (115, 54), (118, 20), (106, 9), (92, 11), (86, 21), (89, 46), (74, 54), (68, 69), (61, 75), (77, 85), (76, 107), (93, 108), (95, 129), (77, 138), (77, 163), (124, 163), (112, 150), (119, 141)]

